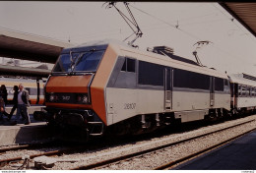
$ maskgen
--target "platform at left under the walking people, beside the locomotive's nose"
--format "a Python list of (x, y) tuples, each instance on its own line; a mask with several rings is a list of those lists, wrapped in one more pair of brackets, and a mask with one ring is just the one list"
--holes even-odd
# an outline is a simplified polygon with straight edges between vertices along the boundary
[[(6, 112), (9, 113), (10, 107), (6, 107)], [(29, 113), (31, 118), (31, 124), (25, 125), (25, 121), (21, 119), (17, 122), (17, 125), (12, 126), (11, 122), (15, 120), (16, 113), (12, 119), (8, 121), (6, 116), (3, 116), (3, 120), (0, 121), (0, 146), (11, 144), (28, 144), (36, 143), (41, 140), (45, 140), (48, 137), (46, 122), (37, 121), (33, 119), (32, 113), (34, 111), (42, 110), (43, 106), (36, 105), (29, 107)]]

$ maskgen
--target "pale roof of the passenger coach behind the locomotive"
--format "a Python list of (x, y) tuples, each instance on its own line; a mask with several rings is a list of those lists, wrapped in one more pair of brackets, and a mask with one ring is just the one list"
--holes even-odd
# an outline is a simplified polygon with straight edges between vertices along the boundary
[(246, 74), (230, 74), (228, 76), (231, 83), (237, 83), (240, 85), (256, 87), (255, 77), (252, 77)]

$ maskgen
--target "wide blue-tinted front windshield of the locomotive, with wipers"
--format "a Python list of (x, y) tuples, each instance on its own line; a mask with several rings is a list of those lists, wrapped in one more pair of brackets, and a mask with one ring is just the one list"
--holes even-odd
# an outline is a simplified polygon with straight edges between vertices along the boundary
[(53, 73), (96, 72), (103, 51), (61, 54)]

